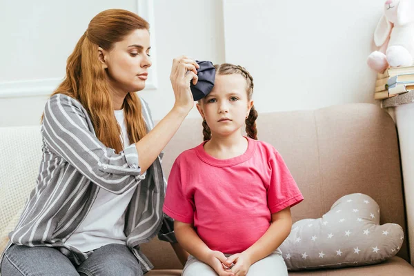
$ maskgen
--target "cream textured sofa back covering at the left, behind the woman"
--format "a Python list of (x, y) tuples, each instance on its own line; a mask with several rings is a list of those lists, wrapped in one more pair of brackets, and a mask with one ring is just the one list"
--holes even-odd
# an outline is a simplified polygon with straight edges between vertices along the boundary
[(0, 253), (8, 242), (41, 161), (39, 126), (0, 128)]

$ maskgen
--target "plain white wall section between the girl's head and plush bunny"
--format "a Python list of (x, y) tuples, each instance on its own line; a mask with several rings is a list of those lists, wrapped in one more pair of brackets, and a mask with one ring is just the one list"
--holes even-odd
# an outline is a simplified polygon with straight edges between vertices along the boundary
[(366, 58), (383, 5), (224, 0), (226, 61), (253, 75), (259, 112), (374, 102)]

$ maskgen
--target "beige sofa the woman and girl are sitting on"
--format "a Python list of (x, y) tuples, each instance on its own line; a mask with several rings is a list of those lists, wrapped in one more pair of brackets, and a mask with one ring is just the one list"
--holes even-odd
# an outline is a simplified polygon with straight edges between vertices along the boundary
[[(381, 224), (400, 224), (405, 237), (413, 233), (406, 226), (406, 217), (411, 218), (414, 210), (405, 210), (397, 132), (384, 110), (368, 103), (355, 103), (319, 110), (262, 113), (257, 125), (259, 139), (279, 150), (305, 197), (292, 209), (294, 221), (321, 217), (339, 197), (364, 193), (380, 205)], [(21, 201), (34, 186), (41, 155), (38, 130), (0, 128), (0, 179), (7, 181), (0, 184), (2, 205), (6, 200)], [(186, 119), (165, 149), (166, 177), (177, 155), (201, 141), (201, 119)], [(15, 157), (10, 159), (12, 155)], [(23, 174), (22, 166), (28, 168)], [(10, 177), (5, 179), (5, 174)], [(10, 185), (12, 190), (1, 190)], [(1, 223), (12, 224), (12, 217), (0, 220), (0, 227)], [(4, 232), (4, 227), (0, 230)], [(141, 248), (155, 265), (155, 270), (147, 275), (181, 274), (182, 266), (166, 242), (154, 239)], [(289, 275), (414, 275), (410, 253), (414, 257), (414, 244), (408, 244), (406, 239), (397, 256), (382, 264)]]

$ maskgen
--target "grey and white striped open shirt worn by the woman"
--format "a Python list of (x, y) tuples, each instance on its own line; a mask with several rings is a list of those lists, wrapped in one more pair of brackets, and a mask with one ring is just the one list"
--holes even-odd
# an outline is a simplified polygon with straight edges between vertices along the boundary
[[(150, 110), (141, 100), (147, 130), (153, 128)], [(92, 251), (82, 253), (64, 242), (75, 232), (92, 207), (99, 189), (121, 194), (136, 186), (126, 210), (126, 244), (146, 273), (153, 266), (139, 244), (155, 235), (177, 242), (172, 219), (162, 212), (166, 181), (161, 170), (163, 152), (141, 176), (135, 144), (115, 153), (95, 135), (85, 108), (66, 95), (50, 97), (41, 127), (43, 157), (37, 186), (32, 190), (10, 243), (50, 246), (81, 264)], [(163, 223), (164, 222), (164, 223)], [(1, 259), (0, 259), (1, 263)]]

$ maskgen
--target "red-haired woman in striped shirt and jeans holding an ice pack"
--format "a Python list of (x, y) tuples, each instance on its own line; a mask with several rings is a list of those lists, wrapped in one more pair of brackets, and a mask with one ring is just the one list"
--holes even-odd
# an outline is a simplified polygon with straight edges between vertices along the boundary
[(135, 94), (151, 66), (148, 29), (137, 14), (106, 10), (79, 39), (46, 103), (37, 186), (9, 235), (3, 276), (143, 275), (152, 265), (139, 244), (157, 233), (176, 242), (161, 210), (161, 150), (193, 108), (198, 64), (173, 61), (175, 105), (154, 127)]

